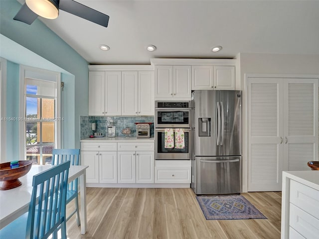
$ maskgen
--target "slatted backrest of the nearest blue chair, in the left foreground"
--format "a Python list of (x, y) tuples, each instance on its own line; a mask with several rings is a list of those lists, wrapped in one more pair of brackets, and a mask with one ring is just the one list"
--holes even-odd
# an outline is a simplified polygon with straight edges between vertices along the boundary
[(46, 239), (66, 220), (69, 168), (70, 162), (67, 161), (33, 176), (27, 239)]

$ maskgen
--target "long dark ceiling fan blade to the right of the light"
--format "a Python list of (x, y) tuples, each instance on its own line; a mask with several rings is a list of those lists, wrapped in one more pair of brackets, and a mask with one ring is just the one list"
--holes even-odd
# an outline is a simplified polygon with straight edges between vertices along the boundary
[(108, 26), (109, 16), (92, 9), (86, 5), (83, 5), (79, 2), (73, 0), (60, 0), (59, 3), (60, 10), (67, 11), (73, 15), (79, 16), (86, 20), (97, 23), (101, 26)]

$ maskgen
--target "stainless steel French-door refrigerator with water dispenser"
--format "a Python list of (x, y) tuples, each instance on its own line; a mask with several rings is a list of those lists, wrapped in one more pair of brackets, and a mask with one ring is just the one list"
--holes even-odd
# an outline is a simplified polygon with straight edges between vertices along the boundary
[(192, 93), (192, 183), (195, 194), (241, 192), (242, 92)]

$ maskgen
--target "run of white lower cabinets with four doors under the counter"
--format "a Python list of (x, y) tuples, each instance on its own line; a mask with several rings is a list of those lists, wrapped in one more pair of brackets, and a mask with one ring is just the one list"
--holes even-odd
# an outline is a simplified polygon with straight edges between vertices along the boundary
[(154, 183), (154, 142), (81, 142), (81, 150), (87, 183)]

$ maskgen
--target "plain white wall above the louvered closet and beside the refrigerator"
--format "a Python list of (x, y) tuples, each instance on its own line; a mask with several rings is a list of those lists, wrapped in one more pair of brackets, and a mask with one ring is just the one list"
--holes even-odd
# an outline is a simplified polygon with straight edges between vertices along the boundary
[[(245, 74), (289, 74), (319, 75), (319, 55), (289, 55), (240, 53), (239, 62), (240, 86), (243, 91), (243, 192), (247, 191), (248, 182), (248, 125), (247, 125), (247, 92)], [(237, 70), (236, 70), (237, 71)], [(237, 75), (236, 75), (237, 76)]]

